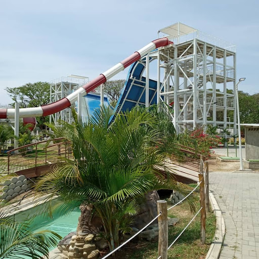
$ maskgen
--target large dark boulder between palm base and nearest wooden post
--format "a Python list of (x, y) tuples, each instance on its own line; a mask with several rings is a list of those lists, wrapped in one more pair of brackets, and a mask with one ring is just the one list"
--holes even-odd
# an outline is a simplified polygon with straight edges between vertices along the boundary
[(139, 214), (134, 218), (134, 227), (142, 229), (157, 216), (158, 200), (159, 195), (156, 191), (145, 194), (145, 201), (140, 205)]

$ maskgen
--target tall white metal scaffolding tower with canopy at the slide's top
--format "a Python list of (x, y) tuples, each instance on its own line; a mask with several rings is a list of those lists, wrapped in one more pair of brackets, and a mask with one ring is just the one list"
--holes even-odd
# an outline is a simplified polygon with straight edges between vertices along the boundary
[(182, 23), (161, 33), (174, 43), (140, 62), (146, 67), (148, 88), (149, 63), (157, 59), (157, 101), (172, 107), (177, 132), (210, 124), (236, 134), (235, 46)]

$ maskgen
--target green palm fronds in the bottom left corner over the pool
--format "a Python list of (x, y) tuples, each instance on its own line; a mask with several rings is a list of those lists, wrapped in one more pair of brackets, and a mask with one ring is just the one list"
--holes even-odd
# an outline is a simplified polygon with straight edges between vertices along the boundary
[[(5, 176), (1, 176), (3, 180)], [(0, 259), (22, 259), (28, 256), (38, 259), (41, 256), (49, 258), (49, 250), (57, 245), (62, 238), (50, 230), (32, 232), (30, 221), (16, 222), (10, 217), (5, 201), (0, 202)]]

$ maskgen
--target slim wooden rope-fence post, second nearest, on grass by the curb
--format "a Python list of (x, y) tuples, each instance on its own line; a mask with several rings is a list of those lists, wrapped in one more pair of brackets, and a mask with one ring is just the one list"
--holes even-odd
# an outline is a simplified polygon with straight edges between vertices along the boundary
[(205, 210), (205, 190), (204, 190), (204, 176), (199, 174), (200, 183), (200, 232), (201, 232), (201, 244), (205, 244), (206, 239), (206, 210)]

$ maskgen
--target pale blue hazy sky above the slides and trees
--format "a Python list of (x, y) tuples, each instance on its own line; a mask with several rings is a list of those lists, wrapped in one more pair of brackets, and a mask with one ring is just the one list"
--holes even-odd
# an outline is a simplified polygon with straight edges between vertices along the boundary
[(93, 80), (177, 22), (236, 45), (239, 90), (259, 93), (258, 10), (256, 0), (0, 0), (0, 104), (12, 102), (7, 87)]

